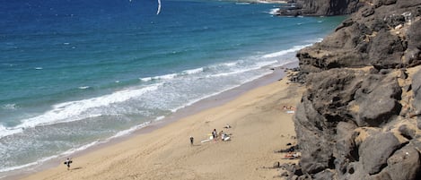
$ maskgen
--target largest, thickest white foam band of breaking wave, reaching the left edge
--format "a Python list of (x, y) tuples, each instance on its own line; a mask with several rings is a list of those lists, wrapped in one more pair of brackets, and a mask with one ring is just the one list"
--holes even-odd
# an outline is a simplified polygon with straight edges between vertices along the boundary
[(25, 128), (31, 128), (38, 125), (65, 123), (88, 118), (92, 115), (87, 112), (89, 112), (89, 110), (92, 108), (107, 107), (114, 103), (120, 103), (127, 101), (128, 99), (134, 99), (148, 91), (157, 90), (158, 86), (160, 85), (161, 84), (158, 83), (142, 89), (120, 90), (112, 94), (97, 98), (60, 103), (54, 105), (51, 110), (40, 116), (22, 120), (22, 124), (17, 126), (11, 128), (2, 128), (0, 126), (0, 138), (14, 133), (22, 133)]

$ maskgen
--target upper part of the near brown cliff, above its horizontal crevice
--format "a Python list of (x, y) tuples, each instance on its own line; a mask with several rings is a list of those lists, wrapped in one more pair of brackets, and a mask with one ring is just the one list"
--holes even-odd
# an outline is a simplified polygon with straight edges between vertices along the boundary
[(373, 66), (380, 70), (421, 64), (420, 5), (397, 1), (364, 6), (342, 22), (335, 33), (297, 54), (303, 73), (339, 67)]

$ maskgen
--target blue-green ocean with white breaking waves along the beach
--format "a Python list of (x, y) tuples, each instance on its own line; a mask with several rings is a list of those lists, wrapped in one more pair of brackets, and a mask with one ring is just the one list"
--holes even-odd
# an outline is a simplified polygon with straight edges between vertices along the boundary
[(0, 4), (0, 177), (162, 121), (297, 61), (344, 17), (276, 4), (15, 0)]

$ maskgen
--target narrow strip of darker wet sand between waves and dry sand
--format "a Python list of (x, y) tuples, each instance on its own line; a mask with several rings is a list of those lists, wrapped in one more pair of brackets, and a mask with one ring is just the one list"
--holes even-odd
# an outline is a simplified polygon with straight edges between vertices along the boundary
[[(183, 120), (189, 116), (195, 116), (197, 113), (206, 111), (211, 108), (221, 107), (226, 103), (231, 102), (233, 99), (238, 99), (239, 97), (243, 96), (250, 92), (250, 90), (259, 89), (263, 86), (268, 86), (268, 84), (276, 83), (279, 79), (285, 79), (286, 73), (285, 69), (287, 68), (294, 68), (298, 66), (298, 62), (293, 62), (289, 64), (284, 64), (280, 67), (274, 68), (274, 72), (270, 73), (264, 77), (261, 77), (257, 80), (253, 80), (242, 84), (241, 86), (234, 88), (232, 90), (224, 91), (218, 95), (213, 97), (209, 97), (207, 99), (202, 99), (189, 107), (184, 107), (174, 113), (171, 116), (163, 118), (161, 121), (153, 122), (152, 124), (148, 124), (143, 128), (136, 130), (133, 133), (128, 135), (124, 135), (121, 137), (113, 138), (110, 141), (102, 142), (100, 144), (96, 144), (86, 150), (77, 151), (68, 157), (83, 157), (89, 156), (98, 150), (110, 149), (110, 147), (116, 146), (119, 143), (124, 141), (132, 141), (134, 138), (138, 137), (139, 135), (153, 133), (157, 130), (162, 129), (166, 126), (171, 126), (172, 124), (176, 124), (180, 120)], [(30, 176), (36, 176), (39, 174), (43, 174), (44, 172), (50, 171), (51, 169), (57, 169), (61, 167), (60, 162), (64, 157), (59, 157), (57, 159), (48, 160), (47, 162), (43, 163), (39, 167), (36, 167), (33, 171), (25, 171), (25, 172), (18, 172), (19, 175), (17, 176), (7, 176), (6, 179), (18, 179), (18, 178), (28, 178)]]

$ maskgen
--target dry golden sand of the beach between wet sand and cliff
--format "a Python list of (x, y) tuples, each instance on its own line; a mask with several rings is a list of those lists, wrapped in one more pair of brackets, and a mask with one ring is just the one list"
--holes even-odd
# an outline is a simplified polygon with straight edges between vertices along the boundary
[[(274, 151), (295, 142), (294, 114), (283, 107), (294, 107), (302, 92), (285, 77), (161, 128), (150, 127), (150, 133), (75, 155), (70, 170), (57, 162), (23, 179), (272, 179), (279, 172), (268, 167), (297, 161)], [(230, 134), (231, 141), (201, 142), (214, 129)]]

